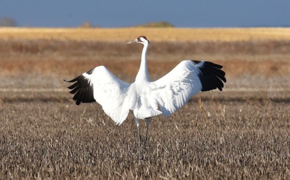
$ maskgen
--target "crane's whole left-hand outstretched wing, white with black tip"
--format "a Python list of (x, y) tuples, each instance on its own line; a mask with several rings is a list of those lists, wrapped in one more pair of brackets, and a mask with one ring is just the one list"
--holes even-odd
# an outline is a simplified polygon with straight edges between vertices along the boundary
[(106, 67), (95, 67), (67, 82), (75, 82), (68, 88), (75, 94), (72, 99), (77, 105), (96, 101), (117, 124), (127, 118), (130, 104), (124, 99), (130, 84), (118, 79)]

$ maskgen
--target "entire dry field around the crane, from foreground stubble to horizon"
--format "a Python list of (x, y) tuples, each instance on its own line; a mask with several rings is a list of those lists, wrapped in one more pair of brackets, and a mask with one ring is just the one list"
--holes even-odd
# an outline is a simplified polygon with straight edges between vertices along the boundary
[[(124, 43), (140, 35), (151, 80), (195, 59), (224, 65), (227, 83), (153, 118), (139, 162), (133, 114), (115, 126), (62, 79), (105, 65), (133, 82), (142, 46)], [(289, 59), (287, 28), (0, 28), (0, 177), (289, 179)]]

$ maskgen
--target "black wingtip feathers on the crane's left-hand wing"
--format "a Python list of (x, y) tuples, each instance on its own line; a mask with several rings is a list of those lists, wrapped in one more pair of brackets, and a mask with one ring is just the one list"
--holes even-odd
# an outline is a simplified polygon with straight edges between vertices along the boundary
[[(90, 70), (92, 71), (92, 70)], [(90, 79), (86, 78), (83, 75), (80, 75), (76, 77), (75, 79), (72, 79), (70, 81), (65, 82), (75, 82), (73, 85), (67, 87), (69, 89), (72, 89), (69, 93), (75, 94), (73, 96), (73, 100), (76, 101), (76, 105), (79, 105), (82, 103), (90, 103), (95, 102), (94, 94), (93, 94), (93, 85), (91, 85)]]

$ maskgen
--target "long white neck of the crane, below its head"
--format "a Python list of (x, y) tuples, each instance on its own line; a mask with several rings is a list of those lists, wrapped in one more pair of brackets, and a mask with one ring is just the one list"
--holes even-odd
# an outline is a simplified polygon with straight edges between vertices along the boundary
[(137, 73), (136, 80), (135, 81), (150, 81), (149, 74), (148, 74), (148, 68), (147, 68), (147, 49), (149, 44), (145, 43), (143, 50), (142, 50), (142, 56), (141, 56), (141, 64), (140, 69)]

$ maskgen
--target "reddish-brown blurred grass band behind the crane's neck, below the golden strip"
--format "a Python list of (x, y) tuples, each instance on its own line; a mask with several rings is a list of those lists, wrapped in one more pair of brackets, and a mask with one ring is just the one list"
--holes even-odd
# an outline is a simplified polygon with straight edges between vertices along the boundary
[[(0, 74), (33, 73), (61, 79), (105, 65), (120, 77), (133, 78), (140, 66), (141, 48), (120, 42), (0, 40)], [(222, 64), (227, 77), (284, 76), (290, 74), (289, 52), (290, 41), (152, 42), (148, 67), (152, 79), (163, 76), (186, 59)]]

